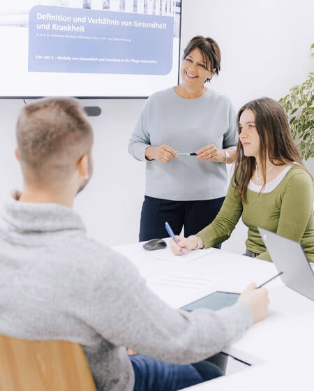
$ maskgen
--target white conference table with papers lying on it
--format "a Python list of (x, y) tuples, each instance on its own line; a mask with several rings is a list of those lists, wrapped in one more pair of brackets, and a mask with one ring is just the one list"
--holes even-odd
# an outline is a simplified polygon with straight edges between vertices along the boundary
[[(130, 259), (149, 287), (174, 308), (216, 290), (241, 292), (248, 283), (259, 285), (278, 273), (273, 263), (216, 249), (193, 251), (190, 259), (172, 256), (168, 246), (145, 251), (136, 243), (114, 250)], [(280, 278), (265, 288), (267, 318), (224, 351), (251, 367), (186, 390), (314, 390), (314, 302)]]

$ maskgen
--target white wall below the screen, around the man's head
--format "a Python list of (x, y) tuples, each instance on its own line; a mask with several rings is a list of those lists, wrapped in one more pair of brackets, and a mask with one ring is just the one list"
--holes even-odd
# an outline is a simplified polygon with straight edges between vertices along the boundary
[[(27, 101), (29, 103), (30, 101)], [(83, 101), (99, 105), (100, 117), (91, 117), (94, 127), (94, 175), (77, 195), (80, 212), (89, 234), (114, 245), (138, 240), (140, 207), (144, 199), (144, 164), (128, 154), (143, 99)], [(15, 161), (15, 122), (23, 101), (0, 100), (0, 205), (11, 189), (22, 188)]]

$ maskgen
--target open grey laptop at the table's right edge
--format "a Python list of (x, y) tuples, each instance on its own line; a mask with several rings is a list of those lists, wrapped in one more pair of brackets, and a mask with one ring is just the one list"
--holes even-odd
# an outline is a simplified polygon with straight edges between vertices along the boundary
[(285, 285), (314, 301), (314, 272), (301, 244), (257, 228)]

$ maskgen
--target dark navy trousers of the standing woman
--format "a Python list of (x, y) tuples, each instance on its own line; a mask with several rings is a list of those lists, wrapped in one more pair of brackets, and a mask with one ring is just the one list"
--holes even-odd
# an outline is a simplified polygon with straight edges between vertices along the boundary
[(140, 222), (140, 242), (156, 237), (169, 237), (167, 221), (174, 235), (195, 235), (213, 221), (225, 197), (201, 201), (171, 201), (145, 195)]

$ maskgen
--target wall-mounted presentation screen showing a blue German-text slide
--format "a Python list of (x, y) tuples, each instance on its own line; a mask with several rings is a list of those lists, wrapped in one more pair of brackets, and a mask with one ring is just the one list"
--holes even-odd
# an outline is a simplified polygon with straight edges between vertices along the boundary
[(176, 85), (181, 1), (0, 3), (2, 97), (144, 97)]

